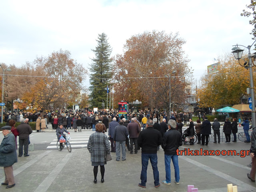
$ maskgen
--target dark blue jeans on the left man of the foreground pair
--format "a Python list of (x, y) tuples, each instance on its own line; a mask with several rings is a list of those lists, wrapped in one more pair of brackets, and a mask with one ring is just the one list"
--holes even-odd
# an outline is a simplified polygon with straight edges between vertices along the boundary
[(142, 170), (141, 170), (141, 174), (140, 174), (141, 185), (146, 186), (148, 159), (150, 159), (150, 163), (153, 168), (154, 184), (155, 184), (155, 186), (158, 186), (159, 185), (159, 172), (158, 172), (158, 168), (157, 168), (157, 154), (156, 153), (152, 153), (152, 154), (142, 153), (141, 154), (141, 164), (142, 164)]

